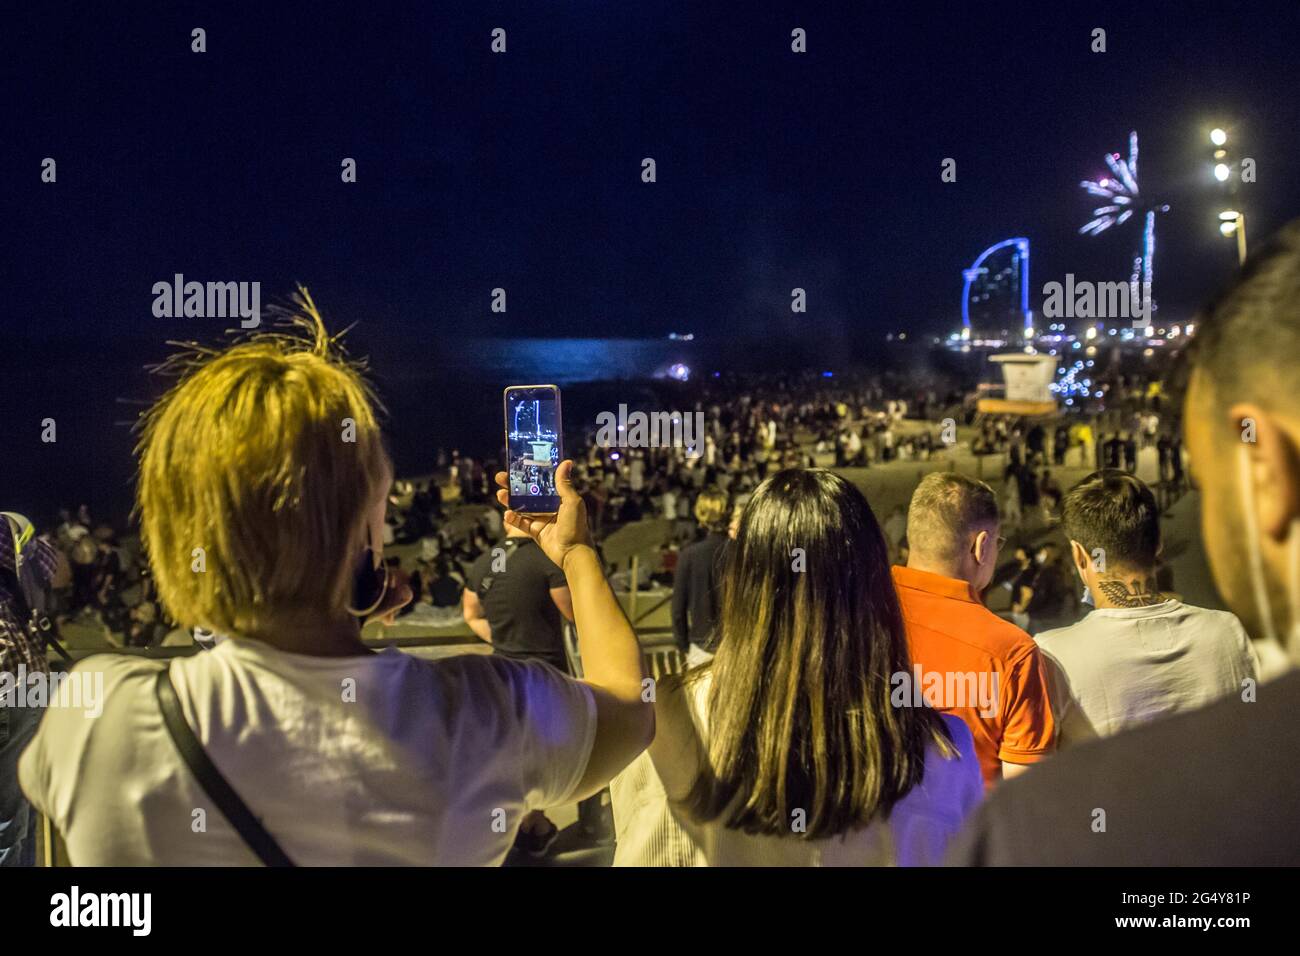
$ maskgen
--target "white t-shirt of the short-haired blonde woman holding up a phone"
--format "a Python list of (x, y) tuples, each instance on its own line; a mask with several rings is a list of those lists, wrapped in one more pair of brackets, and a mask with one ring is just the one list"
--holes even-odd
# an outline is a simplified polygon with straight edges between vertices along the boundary
[[(79, 663), (104, 675), (103, 714), (47, 710), (22, 788), (78, 866), (255, 865), (166, 732), (159, 666)], [(170, 669), (208, 757), (299, 865), (499, 864), (528, 810), (569, 803), (595, 737), (590, 688), (541, 663), (233, 639)]]

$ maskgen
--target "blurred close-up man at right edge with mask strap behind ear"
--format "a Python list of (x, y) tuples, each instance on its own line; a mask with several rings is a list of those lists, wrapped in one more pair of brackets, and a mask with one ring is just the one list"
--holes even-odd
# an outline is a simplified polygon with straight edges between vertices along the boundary
[[(1247, 260), (1182, 356), (1183, 427), (1218, 592), (1261, 682), (1000, 786), (949, 855), (978, 866), (1300, 862), (1300, 220)], [(1282, 671), (1278, 674), (1278, 671)]]

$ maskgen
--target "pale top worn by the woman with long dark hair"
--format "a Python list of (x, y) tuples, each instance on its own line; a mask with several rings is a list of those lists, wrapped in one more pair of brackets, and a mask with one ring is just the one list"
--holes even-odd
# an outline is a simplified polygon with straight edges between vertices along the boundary
[[(701, 749), (707, 740), (706, 700), (711, 675), (686, 685), (690, 722)], [(618, 834), (615, 866), (933, 866), (966, 816), (984, 799), (984, 782), (975, 740), (956, 717), (940, 714), (959, 756), (945, 760), (931, 745), (926, 774), (894, 804), (888, 821), (875, 819), (840, 836), (805, 840), (796, 836), (750, 835), (728, 830), (722, 819), (697, 823), (668, 801), (663, 778), (646, 750), (610, 784)], [(659, 732), (666, 732), (663, 724)], [(668, 731), (671, 732), (671, 731)], [(692, 741), (675, 741), (675, 766), (662, 767), (672, 778), (689, 775)], [(682, 758), (676, 760), (677, 754)], [(689, 754), (689, 756), (688, 756)]]

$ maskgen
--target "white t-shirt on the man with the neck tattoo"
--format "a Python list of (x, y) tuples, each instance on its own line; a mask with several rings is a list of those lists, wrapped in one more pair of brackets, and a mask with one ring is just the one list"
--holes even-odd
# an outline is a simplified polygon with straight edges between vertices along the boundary
[(1034, 640), (1044, 652), (1058, 747), (1195, 710), (1257, 676), (1236, 615), (1182, 601), (1098, 607)]

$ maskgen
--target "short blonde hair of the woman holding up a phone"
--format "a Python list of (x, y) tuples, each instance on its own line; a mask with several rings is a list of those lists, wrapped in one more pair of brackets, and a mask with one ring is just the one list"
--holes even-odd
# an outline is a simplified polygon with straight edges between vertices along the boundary
[(296, 334), (173, 359), (181, 380), (143, 418), (136, 509), (182, 626), (257, 632), (351, 597), (386, 468), (377, 403), (308, 291), (294, 302)]

